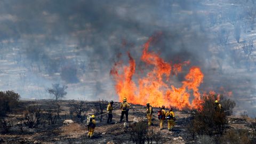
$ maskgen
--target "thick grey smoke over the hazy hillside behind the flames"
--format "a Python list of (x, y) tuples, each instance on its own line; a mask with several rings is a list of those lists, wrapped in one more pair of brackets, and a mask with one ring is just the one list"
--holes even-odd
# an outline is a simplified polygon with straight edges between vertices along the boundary
[[(117, 55), (127, 62), (131, 52), (143, 69), (142, 45), (161, 32), (150, 51), (201, 67), (202, 93), (232, 91), (237, 114), (256, 116), (252, 2), (1, 1), (0, 89), (45, 99), (45, 89), (60, 83), (66, 99), (117, 100), (109, 76)], [(188, 68), (173, 77), (177, 85)]]

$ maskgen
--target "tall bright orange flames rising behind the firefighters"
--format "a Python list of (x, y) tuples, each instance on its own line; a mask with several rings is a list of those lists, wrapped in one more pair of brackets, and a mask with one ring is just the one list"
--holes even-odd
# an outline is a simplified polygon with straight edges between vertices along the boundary
[[(146, 73), (145, 77), (136, 75), (137, 83), (132, 79), (137, 73), (135, 73), (135, 60), (130, 53), (128, 53), (129, 66), (122, 66), (123, 62), (119, 61), (111, 69), (110, 74), (116, 83), (115, 89), (119, 95), (119, 101), (126, 97), (129, 102), (140, 105), (149, 102), (154, 107), (165, 105), (178, 109), (185, 107), (202, 109), (201, 94), (198, 90), (204, 78), (201, 69), (191, 67), (181, 87), (170, 85), (170, 78), (181, 73), (182, 66), (189, 65), (189, 61), (174, 65), (165, 62), (159, 54), (149, 52), (150, 43), (153, 41), (154, 37), (148, 39), (141, 55), (141, 60), (146, 63), (146, 66), (151, 65), (153, 68), (149, 71), (143, 70)], [(194, 97), (190, 97), (192, 94)]]

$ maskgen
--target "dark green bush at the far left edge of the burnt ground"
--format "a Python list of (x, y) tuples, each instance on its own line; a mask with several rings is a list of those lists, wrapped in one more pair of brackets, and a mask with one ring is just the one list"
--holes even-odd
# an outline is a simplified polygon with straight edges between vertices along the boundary
[(18, 106), (20, 95), (14, 91), (0, 91), (0, 117)]

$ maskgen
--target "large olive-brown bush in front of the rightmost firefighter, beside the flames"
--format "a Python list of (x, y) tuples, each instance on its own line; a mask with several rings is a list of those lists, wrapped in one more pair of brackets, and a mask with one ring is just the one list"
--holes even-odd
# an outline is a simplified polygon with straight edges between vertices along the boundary
[(225, 114), (225, 110), (228, 109), (231, 111), (235, 106), (235, 102), (230, 99), (223, 98), (220, 95), (220, 103), (223, 103), (222, 111), (214, 111), (215, 103), (214, 101), (217, 99), (217, 95), (209, 94), (203, 98), (203, 109), (201, 111), (197, 111), (195, 115), (192, 117), (191, 123), (188, 125), (188, 131), (193, 135), (213, 135), (220, 134), (227, 128), (227, 117)]

